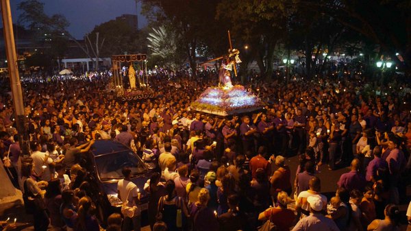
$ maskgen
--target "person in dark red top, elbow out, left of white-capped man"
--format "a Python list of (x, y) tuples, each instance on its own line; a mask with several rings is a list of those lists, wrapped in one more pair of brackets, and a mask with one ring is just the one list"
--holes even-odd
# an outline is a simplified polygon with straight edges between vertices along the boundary
[(258, 215), (258, 220), (266, 221), (271, 219), (271, 222), (277, 226), (278, 231), (289, 231), (292, 223), (295, 220), (295, 214), (287, 208), (287, 205), (292, 202), (288, 194), (284, 191), (277, 193), (277, 206), (267, 208), (264, 212)]

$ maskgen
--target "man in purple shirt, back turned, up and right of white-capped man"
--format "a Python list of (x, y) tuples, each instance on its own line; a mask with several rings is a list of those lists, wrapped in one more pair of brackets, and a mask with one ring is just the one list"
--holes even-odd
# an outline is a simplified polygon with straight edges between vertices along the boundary
[(343, 187), (348, 191), (358, 189), (361, 192), (365, 184), (366, 180), (360, 173), (360, 160), (357, 158), (351, 161), (351, 171), (341, 175), (340, 180), (337, 182), (338, 187)]

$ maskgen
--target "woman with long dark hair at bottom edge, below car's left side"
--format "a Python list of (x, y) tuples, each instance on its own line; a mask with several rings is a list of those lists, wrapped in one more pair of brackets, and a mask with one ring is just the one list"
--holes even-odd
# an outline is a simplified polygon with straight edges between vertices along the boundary
[(75, 231), (99, 231), (99, 223), (97, 218), (92, 215), (94, 205), (90, 197), (82, 197), (79, 200), (79, 210), (77, 211), (77, 217), (75, 219), (74, 230)]

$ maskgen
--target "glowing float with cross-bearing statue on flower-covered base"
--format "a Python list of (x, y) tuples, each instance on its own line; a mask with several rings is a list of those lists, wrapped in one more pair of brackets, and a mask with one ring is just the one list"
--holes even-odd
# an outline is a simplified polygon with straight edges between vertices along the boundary
[[(228, 116), (231, 114), (240, 114), (253, 112), (264, 107), (262, 101), (253, 93), (247, 91), (244, 86), (232, 85), (231, 71), (237, 76), (236, 64), (240, 63), (238, 49), (232, 48), (231, 38), (228, 32), (229, 47), (228, 55), (213, 60), (223, 59), (219, 71), (219, 86), (207, 88), (199, 98), (192, 102), (190, 108), (200, 112), (216, 114), (219, 116)], [(208, 61), (208, 62), (210, 62)]]

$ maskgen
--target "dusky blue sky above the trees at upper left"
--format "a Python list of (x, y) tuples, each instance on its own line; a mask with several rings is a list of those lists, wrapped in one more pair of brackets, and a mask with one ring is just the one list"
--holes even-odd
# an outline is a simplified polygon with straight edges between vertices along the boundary
[[(23, 0), (10, 0), (13, 22), (18, 20), (20, 12), (17, 5)], [(147, 19), (140, 14), (141, 5), (134, 0), (40, 0), (45, 3), (45, 12), (63, 14), (70, 22), (69, 32), (77, 39), (91, 32), (95, 25), (105, 23), (121, 14), (138, 14), (138, 28), (147, 25)]]

